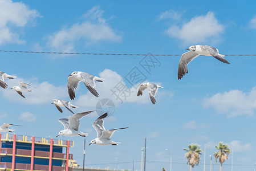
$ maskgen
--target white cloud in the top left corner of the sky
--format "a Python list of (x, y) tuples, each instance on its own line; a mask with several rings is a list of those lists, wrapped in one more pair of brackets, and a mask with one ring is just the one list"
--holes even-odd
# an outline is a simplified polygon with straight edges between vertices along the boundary
[(4, 43), (24, 43), (19, 38), (18, 32), (14, 28), (25, 27), (27, 23), (39, 17), (36, 10), (30, 10), (22, 2), (13, 2), (10, 0), (0, 1), (0, 44)]

